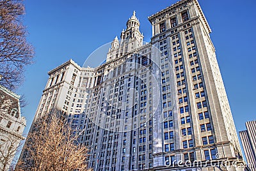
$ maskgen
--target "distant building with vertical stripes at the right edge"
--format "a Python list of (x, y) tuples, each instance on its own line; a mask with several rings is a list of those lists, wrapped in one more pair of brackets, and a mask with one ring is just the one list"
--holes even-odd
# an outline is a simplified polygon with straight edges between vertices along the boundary
[(248, 167), (256, 170), (256, 121), (245, 123), (246, 130), (239, 131)]

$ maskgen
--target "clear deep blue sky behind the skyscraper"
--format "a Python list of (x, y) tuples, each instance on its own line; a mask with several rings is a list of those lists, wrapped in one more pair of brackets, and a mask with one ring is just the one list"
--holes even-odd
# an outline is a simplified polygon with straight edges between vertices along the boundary
[[(35, 64), (28, 66), (25, 82), (17, 91), (25, 94), (23, 108), (28, 132), (47, 82), (47, 71), (70, 58), (83, 65), (93, 50), (112, 41), (120, 33), (132, 11), (141, 23), (144, 41), (152, 28), (147, 17), (176, 1), (84, 1), (25, 0), (28, 41), (35, 47)], [(199, 0), (211, 26), (211, 38), (226, 87), (237, 131), (256, 119), (255, 0)]]

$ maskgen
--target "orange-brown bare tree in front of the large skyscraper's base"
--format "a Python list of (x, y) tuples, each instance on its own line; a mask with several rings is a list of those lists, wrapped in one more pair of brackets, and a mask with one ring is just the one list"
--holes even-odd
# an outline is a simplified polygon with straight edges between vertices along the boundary
[(17, 170), (88, 170), (88, 147), (61, 112), (38, 119), (31, 132)]

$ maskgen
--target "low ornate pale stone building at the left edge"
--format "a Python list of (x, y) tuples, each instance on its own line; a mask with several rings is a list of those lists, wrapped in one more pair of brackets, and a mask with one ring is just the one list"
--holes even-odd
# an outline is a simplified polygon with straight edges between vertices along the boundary
[[(8, 170), (20, 144), (26, 119), (20, 114), (20, 96), (0, 85), (0, 168)], [(3, 161), (3, 159), (8, 161)], [(3, 162), (2, 162), (3, 161)], [(4, 166), (6, 164), (6, 166)]]

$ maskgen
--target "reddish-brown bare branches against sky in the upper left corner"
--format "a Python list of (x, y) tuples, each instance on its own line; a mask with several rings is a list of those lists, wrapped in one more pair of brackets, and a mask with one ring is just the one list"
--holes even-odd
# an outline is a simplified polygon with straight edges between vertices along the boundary
[(22, 25), (24, 12), (22, 0), (0, 0), (0, 84), (10, 90), (22, 83), (24, 67), (34, 56)]

